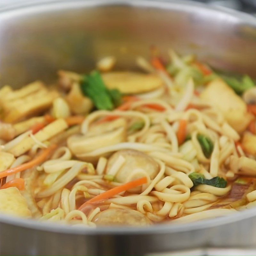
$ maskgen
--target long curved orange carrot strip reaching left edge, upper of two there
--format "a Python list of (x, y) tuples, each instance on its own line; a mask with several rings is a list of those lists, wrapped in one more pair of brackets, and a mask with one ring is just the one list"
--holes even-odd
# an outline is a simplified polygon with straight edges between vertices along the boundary
[(7, 169), (3, 172), (0, 172), (0, 179), (4, 178), (6, 176), (12, 175), (14, 173), (17, 173), (17, 172), (25, 171), (27, 169), (34, 167), (35, 165), (38, 165), (38, 164), (44, 162), (44, 160), (52, 153), (52, 151), (56, 147), (57, 147), (57, 145), (53, 144), (49, 148), (45, 148), (43, 150), (43, 152), (39, 156), (35, 157), (33, 160), (31, 160), (25, 164), (21, 164), (17, 167), (13, 167), (11, 169)]

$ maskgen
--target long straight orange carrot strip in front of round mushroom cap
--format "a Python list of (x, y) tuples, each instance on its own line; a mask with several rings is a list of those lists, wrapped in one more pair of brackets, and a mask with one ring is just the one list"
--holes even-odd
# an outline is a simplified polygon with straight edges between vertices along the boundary
[(78, 210), (83, 211), (83, 208), (87, 205), (87, 204), (92, 204), (92, 203), (96, 203), (99, 201), (103, 201), (106, 200), (110, 197), (116, 196), (117, 194), (124, 192), (126, 190), (132, 189), (132, 188), (136, 188), (138, 186), (141, 186), (143, 184), (147, 183), (147, 178), (143, 177), (140, 178), (138, 180), (133, 180), (131, 182), (125, 183), (123, 185), (120, 185), (116, 188), (111, 188), (108, 191), (99, 194), (97, 196), (94, 196), (92, 199), (88, 200), (87, 202), (85, 202), (84, 204), (82, 204)]

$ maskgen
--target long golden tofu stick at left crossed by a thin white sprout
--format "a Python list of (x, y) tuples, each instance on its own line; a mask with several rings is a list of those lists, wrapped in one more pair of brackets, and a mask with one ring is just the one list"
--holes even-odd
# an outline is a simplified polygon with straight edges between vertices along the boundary
[[(36, 140), (43, 142), (52, 138), (54, 135), (64, 131), (68, 128), (68, 124), (64, 119), (57, 119), (51, 124), (45, 126), (42, 130), (37, 132), (34, 136)], [(26, 153), (30, 148), (36, 144), (36, 141), (33, 140), (30, 136), (24, 138), (16, 146), (9, 150), (14, 156), (20, 156)]]

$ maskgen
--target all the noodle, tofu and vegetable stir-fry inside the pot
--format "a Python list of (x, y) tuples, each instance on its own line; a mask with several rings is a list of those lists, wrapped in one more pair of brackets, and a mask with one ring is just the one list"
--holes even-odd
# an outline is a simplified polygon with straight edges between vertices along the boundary
[(1, 88), (0, 211), (88, 227), (256, 206), (256, 86), (193, 55)]

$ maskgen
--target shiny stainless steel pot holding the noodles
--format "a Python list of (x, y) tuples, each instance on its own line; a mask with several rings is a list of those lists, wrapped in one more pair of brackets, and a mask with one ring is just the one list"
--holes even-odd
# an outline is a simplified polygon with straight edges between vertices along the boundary
[[(194, 52), (215, 68), (256, 77), (256, 19), (181, 1), (56, 1), (1, 13), (1, 84), (52, 82), (60, 68), (86, 72), (104, 55), (134, 67), (157, 45)], [(75, 228), (1, 216), (4, 255), (139, 255), (198, 247), (253, 247), (256, 209), (186, 225)], [(13, 243), (15, 241), (15, 243)]]

